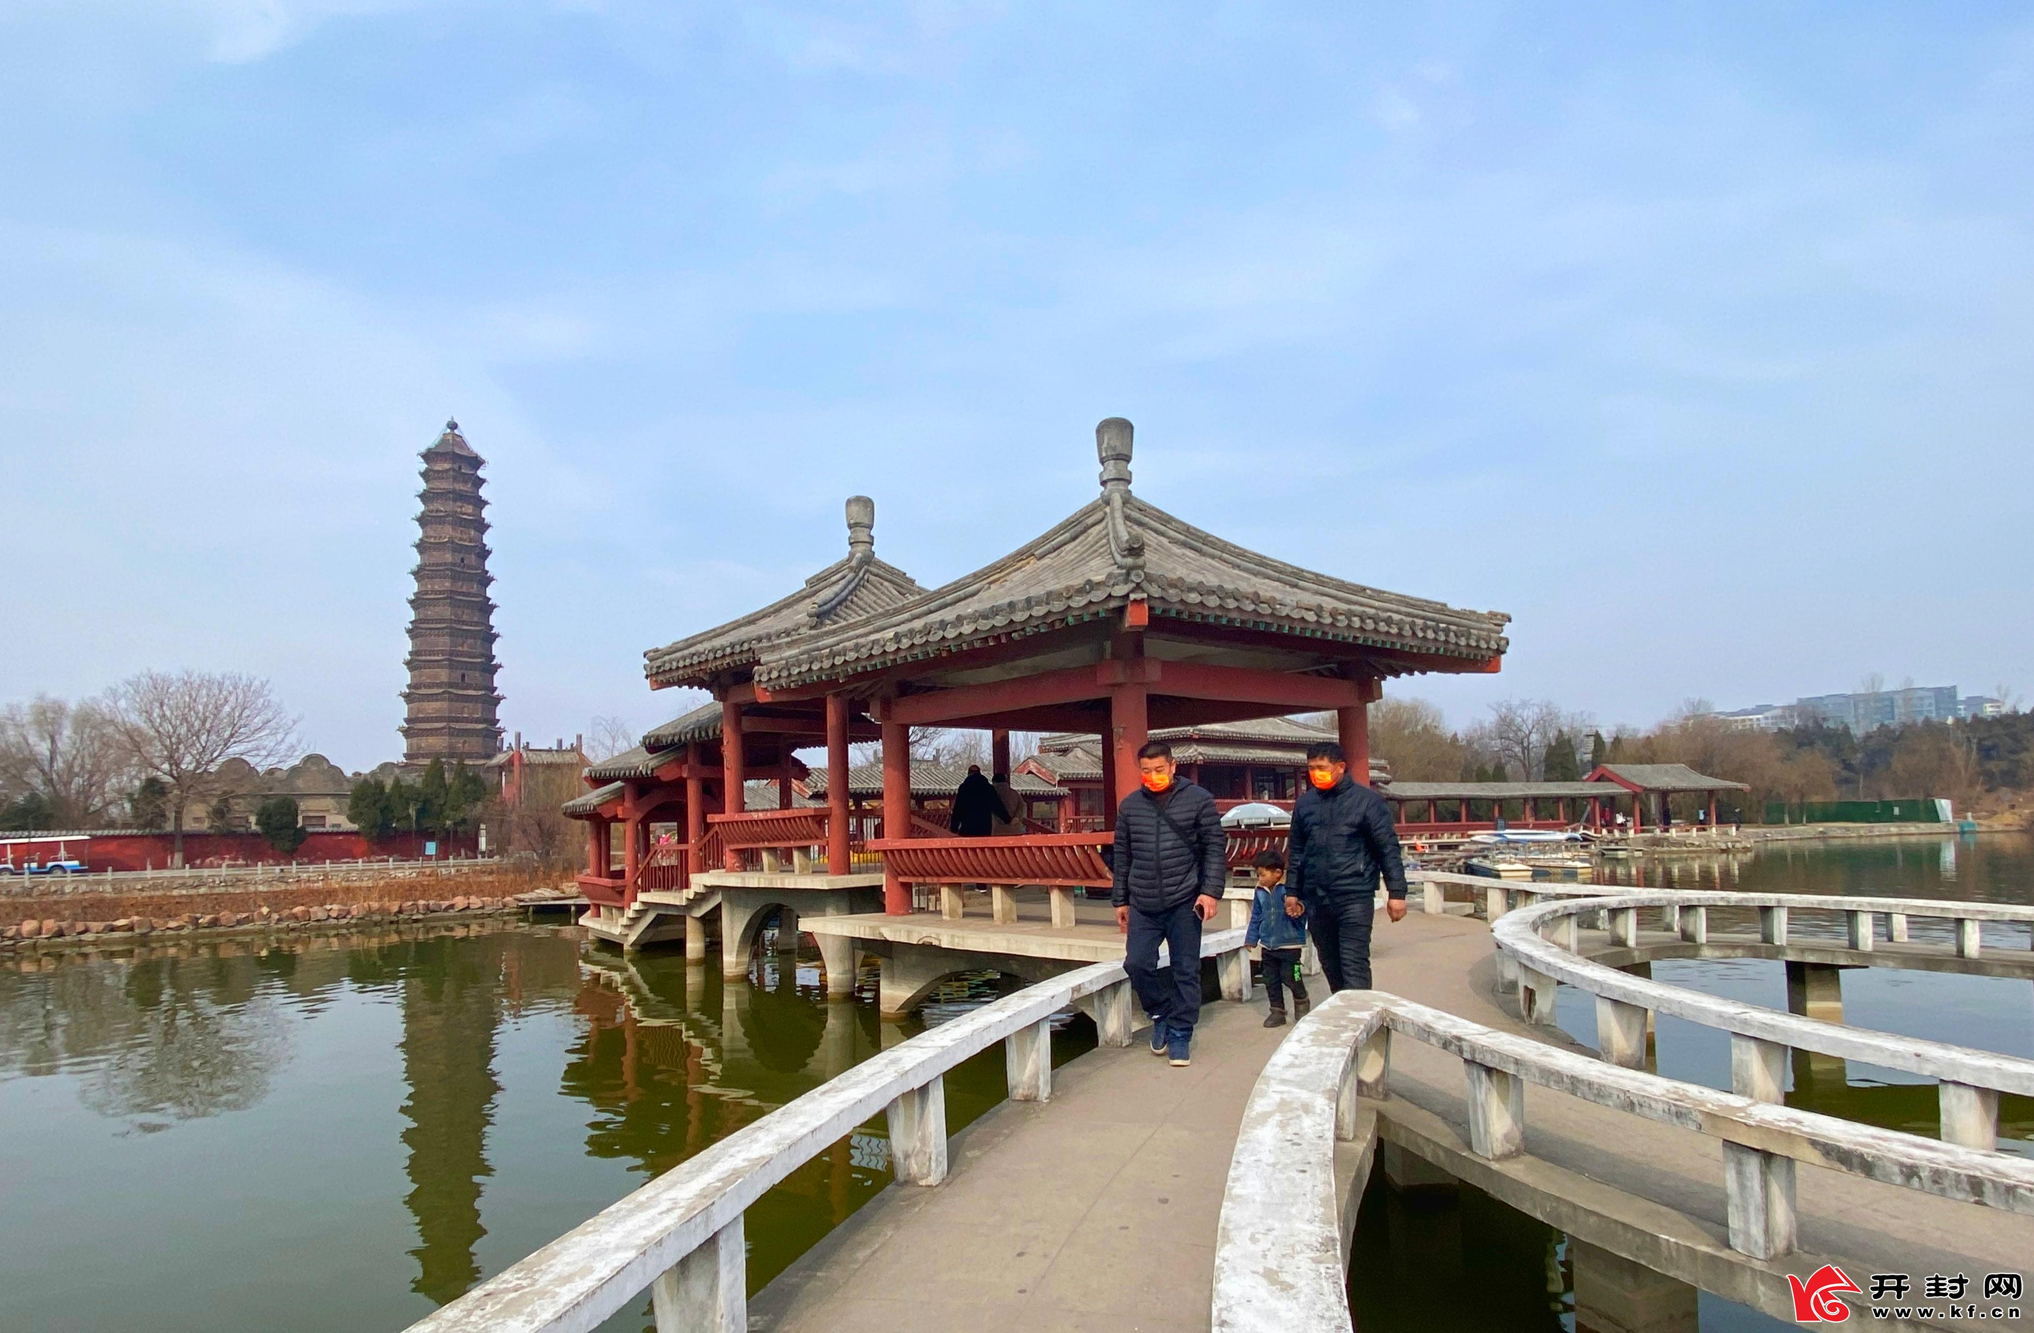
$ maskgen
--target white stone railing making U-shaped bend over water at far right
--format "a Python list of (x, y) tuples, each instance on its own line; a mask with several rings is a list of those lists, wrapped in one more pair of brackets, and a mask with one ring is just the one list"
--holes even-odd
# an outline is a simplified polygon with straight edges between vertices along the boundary
[[(1873, 946), (1877, 916), (1888, 918), (1890, 936), (1902, 942), (1908, 938), (1912, 918), (1945, 918), (1955, 926), (1953, 948), (1959, 959), (1979, 954), (1983, 922), (2034, 926), (2034, 908), (2001, 904), (1812, 897), (1804, 893), (1637, 891), (1595, 900), (1564, 895), (1560, 902), (1519, 908), (1495, 920), (1491, 934), (1497, 948), (1517, 965), (1519, 1011), (1532, 1022), (1554, 1022), (1554, 991), (1562, 981), (1597, 997), (1597, 1044), (1603, 1058), (1613, 1064), (1643, 1066), (1650, 1013), (1672, 1013), (1731, 1034), (1731, 1085), (1745, 1097), (1768, 1103), (1782, 1099), (1784, 1070), (1792, 1048), (1865, 1060), (1934, 1079), (1940, 1087), (1942, 1140), (1985, 1150), (1997, 1146), (1999, 1093), (2034, 1097), (2034, 1060), (1719, 999), (1650, 977), (1633, 977), (1578, 954), (1584, 914), (1603, 912), (1611, 938), (1635, 948), (1641, 910), (1658, 910), (1662, 928), (1682, 940), (1707, 944), (1711, 942), (1709, 914), (1717, 908), (1755, 910), (1759, 918), (1755, 942), (1776, 946), (1788, 942), (1792, 914), (1837, 914), (1845, 920), (1849, 948), (1861, 952), (1869, 952)], [(1548, 930), (1552, 930), (1554, 940), (1544, 938)]]

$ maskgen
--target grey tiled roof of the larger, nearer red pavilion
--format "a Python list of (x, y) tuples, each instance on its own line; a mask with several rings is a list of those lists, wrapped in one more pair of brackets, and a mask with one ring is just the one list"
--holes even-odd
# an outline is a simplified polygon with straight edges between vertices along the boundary
[[(755, 680), (789, 690), (901, 661), (1117, 615), (1143, 600), (1159, 617), (1312, 641), (1456, 659), (1507, 647), (1507, 615), (1381, 592), (1261, 556), (1129, 492), (1129, 421), (1096, 429), (1102, 497), (991, 566), (909, 600), (763, 651)], [(1379, 661), (1387, 674), (1408, 668)]]

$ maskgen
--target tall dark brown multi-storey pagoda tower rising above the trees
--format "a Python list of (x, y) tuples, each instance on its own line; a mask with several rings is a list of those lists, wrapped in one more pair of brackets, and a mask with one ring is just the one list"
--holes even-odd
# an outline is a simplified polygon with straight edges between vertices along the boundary
[(423, 450), (417, 499), (417, 590), (409, 598), (409, 688), (403, 761), (480, 763), (500, 753), (502, 696), (494, 690), (494, 602), (488, 600), (488, 521), (480, 454), (458, 421)]

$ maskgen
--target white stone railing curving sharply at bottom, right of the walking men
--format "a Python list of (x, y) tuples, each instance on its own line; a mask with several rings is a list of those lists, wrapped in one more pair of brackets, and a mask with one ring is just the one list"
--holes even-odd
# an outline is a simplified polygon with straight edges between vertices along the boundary
[(1794, 1250), (1796, 1162), (2034, 1217), (2034, 1162), (1676, 1083), (1383, 991), (1342, 991), (1273, 1052), (1243, 1111), (1214, 1239), (1218, 1333), (1351, 1329), (1334, 1144), (1363, 1132), (1363, 1099), (1391, 1115), (1393, 1036), (1462, 1060), (1469, 1150), (1487, 1162), (1523, 1156), (1528, 1083), (1719, 1140), (1729, 1248), (1749, 1260)]

